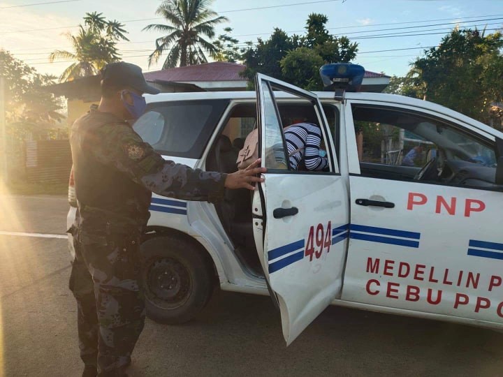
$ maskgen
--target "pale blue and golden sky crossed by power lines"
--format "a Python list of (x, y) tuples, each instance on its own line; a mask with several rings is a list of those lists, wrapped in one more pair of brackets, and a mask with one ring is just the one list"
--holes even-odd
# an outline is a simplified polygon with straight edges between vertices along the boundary
[[(130, 42), (120, 43), (122, 59), (144, 71), (147, 56), (154, 50), (156, 32), (142, 31), (159, 23), (155, 10), (160, 0), (0, 0), (0, 49), (34, 66), (40, 73), (60, 75), (71, 63), (48, 62), (53, 50), (70, 47), (65, 34), (75, 32), (86, 12), (103, 13), (119, 20), (129, 31)], [(304, 34), (309, 13), (328, 16), (332, 34), (358, 42), (353, 63), (367, 71), (405, 75), (409, 64), (426, 47), (438, 45), (457, 24), (487, 27), (488, 33), (503, 27), (503, 0), (215, 0), (211, 8), (229, 21), (217, 27), (233, 28), (232, 35), (247, 40), (268, 38), (275, 27), (289, 34)], [(156, 18), (157, 17), (157, 18)]]

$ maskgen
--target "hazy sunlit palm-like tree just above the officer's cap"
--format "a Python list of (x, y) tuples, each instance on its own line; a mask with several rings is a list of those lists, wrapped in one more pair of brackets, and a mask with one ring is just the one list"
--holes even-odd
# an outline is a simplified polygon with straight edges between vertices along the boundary
[(80, 25), (78, 33), (66, 34), (73, 52), (54, 50), (49, 55), (51, 62), (58, 59), (75, 60), (75, 63), (61, 73), (59, 80), (62, 82), (96, 75), (106, 64), (119, 61), (117, 42), (129, 40), (125, 34), (127, 31), (124, 29), (124, 24), (116, 20), (106, 20), (103, 13), (86, 13), (84, 25)]

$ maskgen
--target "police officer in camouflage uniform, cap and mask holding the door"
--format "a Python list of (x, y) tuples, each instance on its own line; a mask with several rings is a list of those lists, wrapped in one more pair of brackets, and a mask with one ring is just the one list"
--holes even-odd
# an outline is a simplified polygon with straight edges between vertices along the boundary
[(126, 122), (145, 111), (142, 94), (159, 90), (145, 82), (140, 67), (125, 62), (108, 64), (101, 78), (99, 106), (71, 130), (78, 214), (70, 289), (78, 304), (82, 376), (126, 376), (145, 321), (138, 243), (152, 191), (214, 202), (225, 188), (254, 189), (265, 169), (256, 161), (226, 175), (163, 160)]

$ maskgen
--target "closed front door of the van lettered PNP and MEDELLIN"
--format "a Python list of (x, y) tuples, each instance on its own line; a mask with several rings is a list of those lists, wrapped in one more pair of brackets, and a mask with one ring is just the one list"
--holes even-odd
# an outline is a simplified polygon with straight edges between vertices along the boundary
[(351, 226), (342, 299), (503, 324), (495, 136), (438, 109), (348, 100), (344, 110)]

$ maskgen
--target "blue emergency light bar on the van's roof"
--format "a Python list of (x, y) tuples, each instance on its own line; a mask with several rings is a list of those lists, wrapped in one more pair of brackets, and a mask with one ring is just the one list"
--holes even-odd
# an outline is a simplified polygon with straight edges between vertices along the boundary
[(324, 91), (342, 89), (344, 91), (358, 91), (365, 75), (365, 68), (358, 64), (332, 63), (320, 68)]

